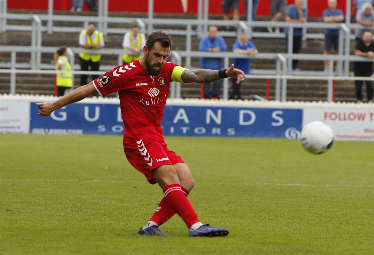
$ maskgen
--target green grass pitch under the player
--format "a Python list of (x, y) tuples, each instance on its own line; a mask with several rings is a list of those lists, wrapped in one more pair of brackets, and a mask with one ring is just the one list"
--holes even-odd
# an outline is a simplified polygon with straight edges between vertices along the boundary
[(373, 254), (372, 142), (323, 155), (286, 139), (166, 137), (189, 199), (228, 237), (191, 238), (176, 215), (138, 236), (162, 198), (121, 136), (0, 135), (0, 254)]

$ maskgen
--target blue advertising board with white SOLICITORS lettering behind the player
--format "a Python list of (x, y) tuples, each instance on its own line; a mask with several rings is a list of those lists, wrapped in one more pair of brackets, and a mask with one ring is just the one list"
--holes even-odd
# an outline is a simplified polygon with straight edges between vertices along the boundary
[[(302, 122), (302, 109), (166, 105), (161, 126), (165, 135), (175, 136), (296, 139)], [(30, 132), (34, 134), (122, 135), (123, 130), (119, 104), (75, 103), (41, 117), (31, 102)]]

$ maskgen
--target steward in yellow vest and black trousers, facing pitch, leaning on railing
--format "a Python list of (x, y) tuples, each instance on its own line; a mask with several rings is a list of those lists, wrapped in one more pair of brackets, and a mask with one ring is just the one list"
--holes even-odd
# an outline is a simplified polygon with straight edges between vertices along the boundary
[[(104, 48), (104, 38), (102, 33), (96, 30), (95, 25), (90, 24), (86, 30), (83, 30), (79, 34), (79, 45), (83, 49), (102, 49)], [(79, 53), (80, 58), (80, 69), (82, 71), (99, 71), (101, 55), (90, 53)], [(92, 80), (95, 80), (98, 76), (92, 75)], [(80, 86), (87, 84), (87, 74), (82, 74), (80, 76)]]

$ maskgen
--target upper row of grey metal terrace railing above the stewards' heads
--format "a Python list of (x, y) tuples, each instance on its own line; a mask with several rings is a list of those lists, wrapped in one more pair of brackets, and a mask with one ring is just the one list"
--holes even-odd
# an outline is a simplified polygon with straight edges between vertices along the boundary
[[(31, 26), (20, 26), (20, 25), (5, 25), (4, 26), (4, 19), (21, 19), (21, 20), (33, 20)], [(99, 24), (107, 24), (107, 23), (134, 23), (136, 22), (141, 30), (144, 32), (148, 30), (150, 33), (150, 28), (153, 25), (170, 25), (170, 19), (140, 19), (140, 18), (109, 18), (105, 15), (101, 15), (99, 17), (96, 16), (70, 16), (70, 15), (21, 15), (21, 14), (2, 14), (0, 18), (2, 20), (1, 27), (5, 27), (5, 30), (15, 30), (15, 31), (31, 31), (31, 45), (32, 46), (40, 46), (42, 41), (42, 32), (53, 33), (53, 32), (65, 32), (65, 33), (76, 33), (86, 27), (89, 22), (99, 22)], [(47, 26), (44, 27), (41, 24), (41, 21), (48, 21)], [(58, 26), (51, 26), (49, 21), (76, 21), (82, 22), (83, 27), (58, 27)], [(104, 23), (102, 23), (104, 22)], [(5, 22), (6, 23), (6, 22)], [(147, 26), (146, 26), (147, 25)], [(177, 35), (184, 35), (186, 36), (186, 51), (191, 51), (191, 39), (192, 36), (198, 36), (199, 31), (202, 31), (199, 27), (201, 26), (200, 20), (194, 19), (173, 19), (173, 25), (184, 26), (186, 29), (184, 30), (168, 30), (166, 31), (169, 34), (177, 34)], [(204, 21), (204, 25), (219, 25), (219, 26), (226, 26), (226, 25), (237, 25), (238, 29), (236, 32), (221, 32), (224, 36), (234, 35), (239, 37), (240, 33), (244, 31), (250, 37), (277, 37), (277, 38), (285, 38), (285, 34), (275, 34), (275, 33), (263, 33), (263, 32), (252, 32), (252, 27), (288, 27), (289, 28), (289, 37), (293, 36), (293, 31), (295, 27), (303, 27), (304, 29), (307, 28), (336, 28), (340, 30), (339, 35), (339, 54), (340, 55), (349, 55), (350, 51), (350, 41), (355, 38), (355, 36), (350, 33), (350, 29), (362, 29), (365, 28), (359, 24), (344, 24), (344, 23), (324, 23), (324, 22), (306, 22), (306, 23), (294, 23), (294, 22), (266, 22), (266, 21), (222, 21), (222, 20), (206, 20)], [(103, 25), (101, 25), (103, 27)], [(193, 30), (193, 27), (196, 27), (196, 30)], [(373, 27), (374, 28), (374, 27)], [(103, 28), (105, 33), (111, 34), (123, 34), (125, 33), (126, 29), (122, 28)], [(205, 29), (205, 28), (204, 28)], [(204, 30), (205, 31), (205, 30)], [(203, 32), (204, 32), (203, 31)], [(225, 34), (226, 33), (226, 34)], [(231, 33), (231, 34), (230, 34)], [(322, 39), (324, 38), (324, 34), (309, 34), (305, 33), (306, 39)], [(292, 53), (293, 47), (293, 40), (288, 40), (287, 45), (287, 52), (288, 54)], [(36, 53), (33, 58), (37, 58), (36, 63), (38, 63), (40, 55)], [(288, 74), (292, 74), (291, 70), (291, 61), (292, 59), (288, 59)], [(186, 66), (190, 67), (189, 59), (187, 59)], [(349, 74), (349, 62), (345, 61), (344, 65), (341, 62), (339, 65), (338, 70), (339, 75), (348, 76)]]

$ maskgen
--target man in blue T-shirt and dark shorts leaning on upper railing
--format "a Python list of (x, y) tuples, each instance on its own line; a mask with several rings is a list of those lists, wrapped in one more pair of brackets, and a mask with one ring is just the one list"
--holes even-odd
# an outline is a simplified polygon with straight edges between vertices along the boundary
[[(324, 22), (342, 22), (344, 20), (343, 11), (336, 9), (337, 0), (328, 0), (328, 9), (324, 10), (322, 18)], [(339, 49), (339, 29), (327, 28), (325, 29), (325, 52), (330, 54), (332, 46), (334, 46), (335, 54), (338, 54)], [(338, 62), (336, 62), (336, 65)], [(336, 67), (337, 68), (337, 67)], [(328, 61), (325, 61), (325, 72), (328, 71)]]

